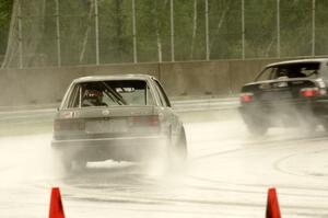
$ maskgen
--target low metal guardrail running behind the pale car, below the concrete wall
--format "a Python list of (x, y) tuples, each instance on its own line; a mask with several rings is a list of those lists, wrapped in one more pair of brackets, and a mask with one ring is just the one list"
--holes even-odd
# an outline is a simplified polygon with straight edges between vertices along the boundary
[[(196, 111), (214, 111), (214, 110), (232, 110), (236, 108), (239, 103), (237, 97), (224, 97), (224, 99), (204, 99), (204, 100), (180, 100), (172, 101), (173, 108), (178, 113), (184, 112), (196, 112)], [(49, 106), (49, 105), (46, 105)], [(0, 111), (0, 123), (7, 122), (21, 122), (25, 121), (51, 121), (55, 113), (56, 106), (52, 107), (37, 107), (37, 108), (25, 108), (22, 107), (19, 110)]]

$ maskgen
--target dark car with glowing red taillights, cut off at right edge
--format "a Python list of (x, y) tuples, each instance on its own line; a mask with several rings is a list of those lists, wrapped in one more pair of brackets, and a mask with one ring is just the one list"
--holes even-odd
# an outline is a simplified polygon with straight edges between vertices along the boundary
[(239, 112), (249, 131), (298, 126), (306, 133), (328, 129), (328, 59), (298, 59), (268, 65), (243, 85)]

